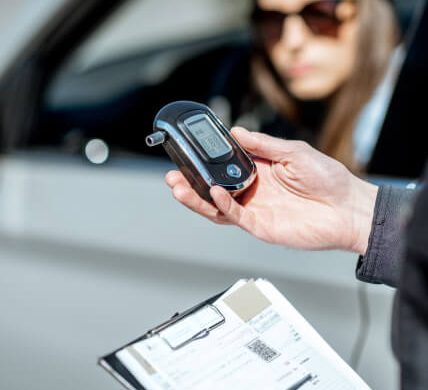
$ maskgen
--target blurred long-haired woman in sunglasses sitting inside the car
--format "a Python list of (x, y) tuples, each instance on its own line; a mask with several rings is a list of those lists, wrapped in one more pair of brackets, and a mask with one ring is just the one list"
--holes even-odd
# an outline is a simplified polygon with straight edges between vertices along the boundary
[[(291, 138), (362, 168), (354, 128), (399, 39), (390, 1), (258, 0), (252, 20), (259, 95), (297, 128)], [(289, 137), (287, 128), (275, 135)]]

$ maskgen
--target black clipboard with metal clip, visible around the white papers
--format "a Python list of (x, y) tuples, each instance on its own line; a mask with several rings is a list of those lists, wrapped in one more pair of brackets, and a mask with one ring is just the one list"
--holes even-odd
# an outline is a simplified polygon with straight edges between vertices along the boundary
[[(227, 292), (228, 289), (222, 291), (221, 293), (218, 293), (211, 298), (208, 298), (207, 300), (198, 303), (197, 305), (191, 307), (190, 309), (187, 309), (181, 313), (175, 313), (169, 320), (161, 323), (160, 325), (148, 330), (144, 335), (138, 337), (137, 339), (129, 342), (128, 344), (125, 344), (124, 346), (114, 350), (113, 352), (102, 356), (98, 359), (98, 365), (100, 365), (102, 368), (104, 368), (110, 375), (113, 376), (122, 386), (124, 386), (127, 390), (147, 390), (143, 385), (135, 378), (135, 376), (122, 364), (120, 359), (117, 358), (116, 353), (125, 349), (128, 346), (131, 346), (135, 343), (138, 343), (139, 341), (146, 340), (150, 337), (153, 337), (155, 335), (158, 335), (163, 330), (166, 330), (168, 328), (171, 328), (175, 324), (179, 323), (180, 321), (184, 320), (185, 318), (188, 318), (189, 316), (194, 315), (198, 311), (206, 308), (206, 307), (214, 307), (212, 304), (217, 301), (225, 292)], [(217, 308), (215, 308), (216, 311), (218, 311)], [(218, 311), (218, 313), (221, 315), (222, 320), (219, 321), (216, 326), (210, 327), (208, 329), (201, 329), (200, 333), (196, 333), (189, 337), (185, 342), (180, 343), (179, 345), (171, 346), (172, 349), (179, 349), (187, 345), (188, 343), (191, 343), (192, 341), (198, 340), (201, 337), (206, 337), (209, 335), (209, 332), (213, 329), (215, 329), (218, 326), (221, 326), (225, 319), (224, 316)]]

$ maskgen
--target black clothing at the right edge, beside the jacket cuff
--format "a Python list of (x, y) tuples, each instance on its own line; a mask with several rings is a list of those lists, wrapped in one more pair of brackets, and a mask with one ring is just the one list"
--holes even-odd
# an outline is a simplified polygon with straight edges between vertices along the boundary
[(428, 389), (428, 166), (406, 228), (398, 299), (398, 341), (403, 390)]

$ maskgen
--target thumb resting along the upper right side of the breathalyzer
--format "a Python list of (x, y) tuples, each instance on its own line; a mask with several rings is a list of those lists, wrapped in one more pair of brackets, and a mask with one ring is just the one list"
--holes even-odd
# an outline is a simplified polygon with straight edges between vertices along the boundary
[(286, 160), (288, 154), (297, 150), (299, 143), (250, 132), (243, 127), (234, 127), (232, 135), (247, 152), (274, 162)]

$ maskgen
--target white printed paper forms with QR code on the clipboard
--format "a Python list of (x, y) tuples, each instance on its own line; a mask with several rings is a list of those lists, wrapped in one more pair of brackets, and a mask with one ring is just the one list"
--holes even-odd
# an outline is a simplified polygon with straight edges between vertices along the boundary
[(171, 348), (217, 324), (211, 311), (117, 357), (149, 390), (369, 389), (269, 282), (240, 281), (213, 306), (224, 322), (206, 337)]

